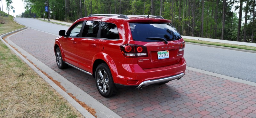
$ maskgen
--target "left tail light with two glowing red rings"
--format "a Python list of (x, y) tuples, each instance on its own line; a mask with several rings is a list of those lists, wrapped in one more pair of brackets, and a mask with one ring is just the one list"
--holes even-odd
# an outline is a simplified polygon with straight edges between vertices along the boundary
[(148, 57), (146, 46), (124, 44), (120, 45), (120, 49), (124, 57)]

